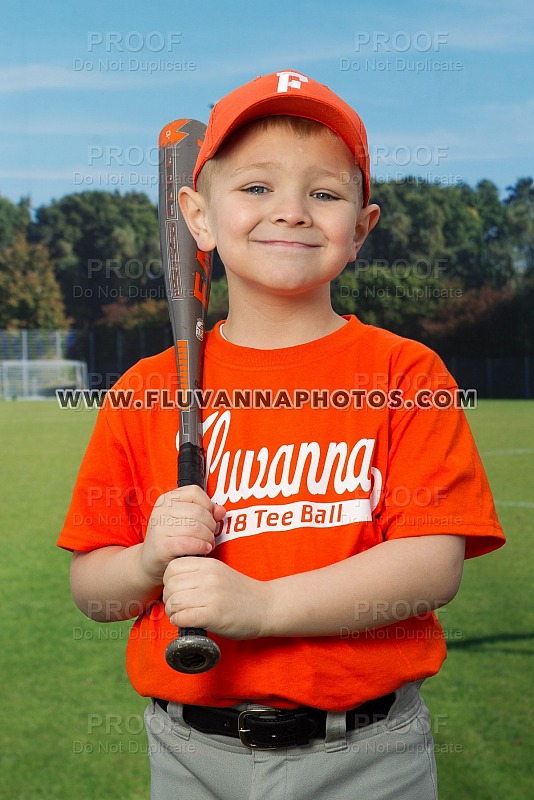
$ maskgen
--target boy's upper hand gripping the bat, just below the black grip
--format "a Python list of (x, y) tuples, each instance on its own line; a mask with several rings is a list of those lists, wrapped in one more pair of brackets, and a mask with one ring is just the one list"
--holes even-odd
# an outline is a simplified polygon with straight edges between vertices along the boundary
[(223, 506), (213, 503), (198, 486), (162, 494), (152, 509), (141, 553), (147, 580), (161, 586), (173, 559), (211, 553), (217, 522), (225, 513)]

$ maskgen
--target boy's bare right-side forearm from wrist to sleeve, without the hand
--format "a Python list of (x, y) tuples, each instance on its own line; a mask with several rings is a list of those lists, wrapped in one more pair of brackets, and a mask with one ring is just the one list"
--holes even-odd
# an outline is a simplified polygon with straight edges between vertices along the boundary
[(280, 578), (268, 625), (278, 636), (339, 635), (428, 614), (456, 595), (464, 549), (463, 536), (392, 539), (314, 573)]

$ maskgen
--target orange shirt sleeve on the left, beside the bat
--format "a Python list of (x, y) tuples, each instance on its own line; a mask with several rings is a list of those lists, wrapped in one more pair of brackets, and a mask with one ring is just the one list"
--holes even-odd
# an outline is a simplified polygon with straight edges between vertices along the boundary
[[(113, 430), (105, 406), (99, 411), (57, 544), (88, 552), (142, 541), (135, 482), (125, 441)], [(116, 427), (117, 412), (113, 412)]]

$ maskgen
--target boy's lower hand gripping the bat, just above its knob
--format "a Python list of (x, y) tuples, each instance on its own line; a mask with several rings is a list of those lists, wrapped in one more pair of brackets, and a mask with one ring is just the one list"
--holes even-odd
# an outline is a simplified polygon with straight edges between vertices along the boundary
[(215, 558), (171, 561), (163, 602), (173, 625), (204, 628), (228, 639), (256, 639), (270, 602), (269, 581), (257, 581)]

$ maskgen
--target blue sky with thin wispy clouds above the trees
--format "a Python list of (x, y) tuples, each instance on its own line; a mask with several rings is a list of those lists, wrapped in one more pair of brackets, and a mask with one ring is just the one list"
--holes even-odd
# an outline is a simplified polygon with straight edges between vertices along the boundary
[(0, 194), (156, 199), (157, 139), (294, 69), (362, 116), (373, 176), (534, 175), (531, 0), (0, 0)]

